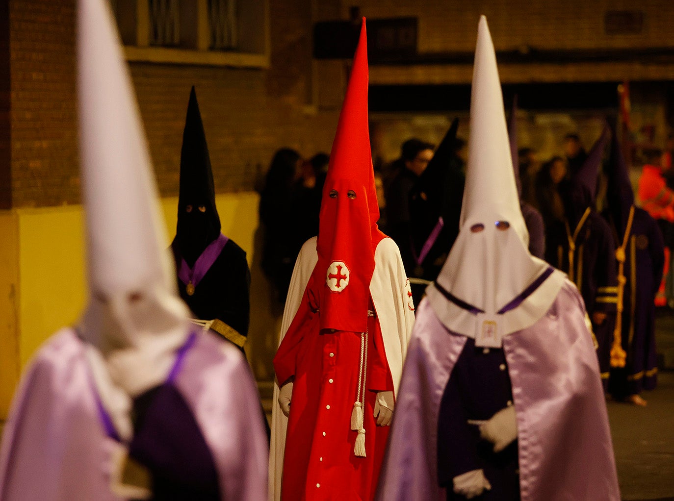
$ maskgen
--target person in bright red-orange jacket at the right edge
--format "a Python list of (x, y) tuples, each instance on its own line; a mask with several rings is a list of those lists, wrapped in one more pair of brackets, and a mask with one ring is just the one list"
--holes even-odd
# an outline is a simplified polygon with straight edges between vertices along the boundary
[(644, 149), (646, 163), (639, 178), (639, 199), (642, 208), (656, 220), (663, 240), (665, 241), (665, 269), (658, 293), (655, 296), (656, 306), (674, 308), (674, 191), (667, 186), (660, 164), (662, 152), (657, 148)]

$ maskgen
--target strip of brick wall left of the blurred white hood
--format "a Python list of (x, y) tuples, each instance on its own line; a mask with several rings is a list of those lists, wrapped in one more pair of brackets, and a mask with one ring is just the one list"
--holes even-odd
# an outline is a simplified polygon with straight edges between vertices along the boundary
[(74, 5), (9, 1), (13, 205), (78, 200)]

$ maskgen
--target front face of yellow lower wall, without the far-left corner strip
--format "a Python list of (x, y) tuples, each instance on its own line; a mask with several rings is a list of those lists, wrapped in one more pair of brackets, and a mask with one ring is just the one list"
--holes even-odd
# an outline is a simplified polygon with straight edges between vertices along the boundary
[[(218, 195), (222, 232), (253, 260), (257, 228), (256, 193)], [(168, 236), (173, 238), (177, 198), (162, 200)], [(86, 304), (86, 265), (81, 205), (18, 209), (20, 269), (20, 362), (51, 334), (78, 320)], [(1, 229), (1, 228), (0, 228)], [(171, 239), (169, 238), (169, 240)], [(166, 242), (166, 246), (170, 244)]]

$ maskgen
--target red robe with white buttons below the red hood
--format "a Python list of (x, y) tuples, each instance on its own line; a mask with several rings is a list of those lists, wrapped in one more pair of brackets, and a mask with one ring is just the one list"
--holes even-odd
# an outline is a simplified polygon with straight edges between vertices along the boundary
[(368, 319), (366, 457), (356, 457), (357, 432), (350, 429), (350, 420), (359, 385), (361, 335), (331, 329), (319, 333), (318, 319), (305, 292), (293, 320), (298, 325), (288, 329), (274, 358), (279, 381), (295, 376), (282, 499), (370, 500), (390, 430), (375, 425), (375, 398), (379, 391), (394, 390), (379, 322), (376, 313)]

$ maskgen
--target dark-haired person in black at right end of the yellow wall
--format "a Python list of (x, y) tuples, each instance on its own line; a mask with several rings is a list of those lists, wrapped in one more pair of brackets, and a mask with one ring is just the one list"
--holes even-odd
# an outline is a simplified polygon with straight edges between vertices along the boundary
[(302, 158), (294, 149), (279, 149), (272, 158), (259, 197), (259, 219), (264, 225), (262, 271), (272, 283), (279, 302), (288, 294), (297, 257), (293, 235), (295, 193)]

